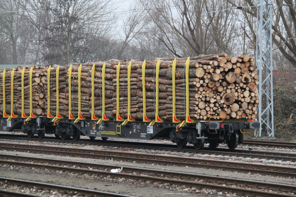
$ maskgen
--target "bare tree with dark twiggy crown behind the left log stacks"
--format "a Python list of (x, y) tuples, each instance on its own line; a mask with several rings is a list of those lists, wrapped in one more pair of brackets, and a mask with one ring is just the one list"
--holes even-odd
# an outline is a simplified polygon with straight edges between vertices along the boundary
[(38, 30), (36, 58), (42, 53), (44, 61), (67, 64), (83, 50), (83, 43), (88, 36), (85, 32), (92, 30), (105, 34), (114, 22), (110, 15), (114, 7), (111, 0), (25, 0), (23, 9), (27, 19)]

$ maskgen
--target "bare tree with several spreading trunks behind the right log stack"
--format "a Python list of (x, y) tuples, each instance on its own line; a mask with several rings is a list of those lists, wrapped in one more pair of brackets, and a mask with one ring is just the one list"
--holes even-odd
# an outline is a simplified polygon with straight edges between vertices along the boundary
[[(235, 11), (225, 1), (152, 0), (141, 1), (147, 7), (156, 39), (177, 56), (205, 53), (232, 53), (236, 33)], [(148, 6), (149, 4), (149, 6)]]

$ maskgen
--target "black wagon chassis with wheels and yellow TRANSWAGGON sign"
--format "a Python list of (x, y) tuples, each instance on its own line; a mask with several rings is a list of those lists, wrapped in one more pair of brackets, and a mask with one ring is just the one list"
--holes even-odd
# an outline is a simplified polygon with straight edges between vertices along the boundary
[(179, 148), (184, 148), (187, 143), (193, 144), (196, 149), (202, 149), (205, 143), (210, 143), (210, 147), (215, 148), (219, 143), (226, 141), (230, 149), (237, 147), (243, 142), (243, 131), (245, 129), (259, 129), (258, 121), (198, 121), (197, 123), (186, 123), (180, 126), (178, 123), (154, 123), (149, 125), (147, 122), (128, 122), (122, 121), (102, 121), (97, 124), (92, 120), (60, 119), (52, 122), (45, 116), (32, 118), (26, 122), (25, 118), (0, 118), (0, 130), (12, 131), (22, 129), (28, 137), (37, 134), (42, 138), (45, 133), (55, 134), (57, 137), (67, 139), (73, 137), (79, 140), (80, 135), (90, 138), (115, 137), (121, 139), (154, 139), (159, 136), (168, 135), (170, 140), (177, 144)]

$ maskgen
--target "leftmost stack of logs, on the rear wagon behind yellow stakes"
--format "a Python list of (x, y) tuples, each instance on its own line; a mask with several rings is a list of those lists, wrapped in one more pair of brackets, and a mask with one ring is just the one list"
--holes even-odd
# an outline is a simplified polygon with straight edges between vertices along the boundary
[[(32, 103), (34, 115), (46, 115), (47, 108), (45, 102), (47, 100), (47, 67), (33, 65), (32, 75)], [(29, 102), (29, 71), (31, 67), (25, 67), (24, 74), (24, 113), (30, 114)], [(3, 116), (3, 77), (5, 77), (5, 97), (6, 97), (6, 114), (11, 114), (11, 76), (12, 69), (6, 69), (6, 74), (3, 76), (3, 71), (0, 70), (0, 116)], [(13, 112), (15, 115), (21, 115), (22, 112), (22, 67), (18, 66), (14, 73), (13, 84)]]

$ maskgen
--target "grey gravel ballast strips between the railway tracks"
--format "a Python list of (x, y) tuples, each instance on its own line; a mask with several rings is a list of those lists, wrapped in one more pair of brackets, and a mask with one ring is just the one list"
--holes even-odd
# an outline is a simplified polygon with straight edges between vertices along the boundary
[[(16, 143), (16, 140), (0, 140), (5, 143)], [(152, 140), (153, 141), (153, 140)], [(156, 140), (155, 140), (156, 141)], [(148, 141), (150, 142), (150, 141)], [(168, 141), (165, 141), (165, 143)], [(174, 156), (182, 156), (182, 157), (192, 157), (192, 158), (203, 158), (205, 155), (200, 154), (191, 154), (191, 153), (181, 153), (181, 152), (165, 152), (165, 151), (152, 151), (152, 150), (143, 150), (143, 149), (123, 149), (123, 148), (115, 148), (115, 147), (102, 147), (102, 146), (91, 146), (91, 145), (78, 145), (78, 144), (60, 144), (60, 143), (51, 143), (51, 142), (24, 142), (19, 141), (18, 144), (34, 144), (40, 146), (57, 146), (57, 147), (75, 147), (82, 149), (94, 149), (94, 150), (110, 150), (110, 151), (119, 151), (119, 152), (143, 152), (150, 154), (160, 154), (160, 155), (174, 155)], [(220, 145), (221, 146), (221, 145)], [(223, 147), (223, 145), (222, 145)], [(246, 147), (243, 147), (246, 148)], [(238, 149), (243, 149), (238, 147)], [(252, 147), (255, 149), (254, 147)], [(274, 151), (274, 150), (273, 150)], [(293, 152), (293, 150), (286, 150), (287, 152)], [(114, 161), (103, 160), (103, 159), (87, 159), (87, 158), (79, 158), (79, 157), (61, 157), (57, 155), (47, 155), (47, 154), (32, 154), (28, 152), (11, 152), (1, 150), (1, 154), (12, 154), (12, 155), (22, 155), (28, 157), (42, 157), (49, 159), (62, 159), (69, 161), (78, 161), (78, 162), (89, 162), (89, 163), (99, 163), (106, 165), (116, 165), (123, 167), (139, 167), (139, 168), (149, 168), (155, 170), (168, 170), (174, 172), (187, 172), (187, 173), (195, 173), (202, 175), (211, 175), (211, 176), (219, 176), (219, 177), (227, 177), (227, 178), (236, 178), (236, 179), (245, 179), (245, 180), (256, 180), (260, 182), (270, 182), (270, 183), (280, 183), (280, 184), (288, 184), (288, 185), (296, 185), (295, 179), (292, 178), (281, 178), (281, 177), (273, 177), (273, 176), (263, 176), (258, 174), (251, 173), (238, 173), (238, 172), (229, 172), (221, 170), (212, 170), (212, 169), (204, 169), (204, 168), (193, 168), (193, 167), (178, 167), (178, 166), (165, 166), (165, 165), (153, 165), (153, 164), (142, 164), (137, 162), (123, 162), (123, 161)], [(295, 167), (294, 163), (289, 162), (279, 162), (271, 160), (260, 160), (260, 159), (250, 159), (250, 158), (240, 158), (240, 157), (229, 157), (229, 156), (216, 156), (216, 155), (206, 155), (205, 159), (215, 159), (215, 160), (229, 160), (235, 162), (246, 162), (246, 163), (257, 163), (260, 162), (266, 163), (268, 165), (278, 165), (278, 166), (289, 166)], [(9, 166), (0, 166), (0, 176), (7, 178), (16, 178), (22, 180), (32, 180), (43, 183), (52, 183), (52, 184), (60, 184), (65, 186), (73, 186), (73, 187), (82, 187), (88, 189), (97, 189), (99, 191), (107, 191), (111, 193), (120, 193), (130, 196), (236, 196), (235, 194), (229, 193), (219, 193), (211, 190), (197, 190), (196, 188), (184, 188), (184, 187), (173, 187), (168, 184), (156, 185), (156, 184), (143, 184), (143, 183), (130, 183), (126, 180), (98, 180), (92, 179), (88, 176), (77, 176), (77, 175), (67, 175), (61, 172), (51, 172), (44, 171), (40, 169), (27, 169), (27, 168), (19, 168), (19, 167), (9, 167)], [(295, 168), (296, 169), (296, 168)]]

